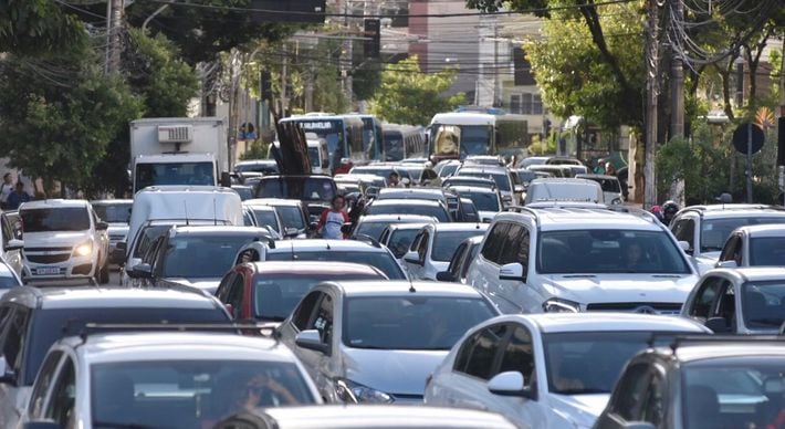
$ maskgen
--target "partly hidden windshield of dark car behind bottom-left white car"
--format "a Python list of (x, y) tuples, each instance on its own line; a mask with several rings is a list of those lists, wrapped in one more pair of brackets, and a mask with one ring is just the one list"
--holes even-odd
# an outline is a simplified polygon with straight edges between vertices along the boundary
[(226, 312), (217, 306), (210, 308), (177, 307), (106, 307), (94, 308), (48, 308), (34, 313), (30, 328), (30, 347), (24, 368), (23, 385), (30, 386), (46, 355), (49, 347), (57, 339), (77, 335), (85, 323), (226, 323)]

